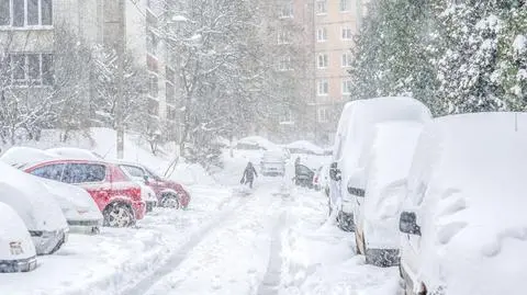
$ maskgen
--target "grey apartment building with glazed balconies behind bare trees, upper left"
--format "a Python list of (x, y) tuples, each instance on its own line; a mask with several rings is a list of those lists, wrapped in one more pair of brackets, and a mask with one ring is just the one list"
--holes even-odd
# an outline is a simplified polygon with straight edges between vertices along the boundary
[[(173, 137), (176, 86), (159, 27), (162, 1), (125, 0), (124, 4), (126, 50), (136, 66), (148, 71), (145, 116), (150, 118), (149, 128), (170, 131), (166, 135)], [(26, 97), (38, 98), (51, 92), (56, 29), (67, 26), (88, 46), (114, 48), (123, 39), (117, 35), (121, 16), (117, 0), (0, 0), (0, 53), (9, 64), (5, 66), (13, 68), (3, 83), (10, 84), (9, 92), (14, 95), (31, 92)]]

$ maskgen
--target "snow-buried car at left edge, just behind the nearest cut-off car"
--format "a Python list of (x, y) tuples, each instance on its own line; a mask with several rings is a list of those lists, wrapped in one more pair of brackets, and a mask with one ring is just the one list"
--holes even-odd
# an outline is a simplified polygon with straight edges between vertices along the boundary
[(0, 202), (24, 220), (37, 254), (51, 254), (67, 241), (68, 224), (47, 188), (33, 175), (0, 162)]

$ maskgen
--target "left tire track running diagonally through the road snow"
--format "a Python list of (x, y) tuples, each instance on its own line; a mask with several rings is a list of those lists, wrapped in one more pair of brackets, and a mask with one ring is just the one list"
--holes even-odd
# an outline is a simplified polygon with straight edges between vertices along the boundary
[[(223, 208), (226, 203), (232, 202), (233, 196), (228, 197), (226, 201), (222, 202), (218, 208)], [(225, 209), (220, 215), (217, 215), (213, 220), (211, 220), (206, 226), (200, 228), (197, 232), (194, 232), (189, 241), (187, 241), (183, 246), (179, 248), (179, 250), (171, 254), (170, 258), (162, 263), (159, 268), (157, 268), (153, 273), (143, 277), (139, 282), (134, 284), (133, 286), (125, 287), (120, 294), (122, 295), (144, 295), (146, 294), (152, 286), (154, 286), (158, 281), (162, 280), (166, 275), (170, 274), (175, 269), (178, 268), (184, 259), (187, 259), (188, 253), (200, 243), (205, 236), (214, 228), (216, 228), (220, 224), (227, 222), (235, 211), (239, 207), (244, 206), (247, 203), (247, 200), (240, 198), (239, 203), (235, 206)]]

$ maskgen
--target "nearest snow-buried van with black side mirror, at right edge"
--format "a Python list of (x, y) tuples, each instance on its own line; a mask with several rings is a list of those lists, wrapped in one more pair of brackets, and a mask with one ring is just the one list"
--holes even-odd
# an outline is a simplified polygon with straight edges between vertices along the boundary
[(526, 150), (526, 113), (425, 126), (400, 219), (406, 294), (525, 294)]

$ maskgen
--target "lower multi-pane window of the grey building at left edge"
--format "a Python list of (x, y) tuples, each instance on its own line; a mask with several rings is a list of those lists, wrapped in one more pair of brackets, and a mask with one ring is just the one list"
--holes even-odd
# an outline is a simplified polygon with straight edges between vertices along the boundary
[(12, 84), (53, 84), (53, 55), (51, 54), (11, 54), (9, 64)]

